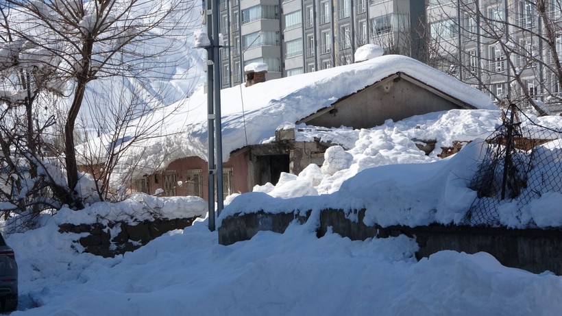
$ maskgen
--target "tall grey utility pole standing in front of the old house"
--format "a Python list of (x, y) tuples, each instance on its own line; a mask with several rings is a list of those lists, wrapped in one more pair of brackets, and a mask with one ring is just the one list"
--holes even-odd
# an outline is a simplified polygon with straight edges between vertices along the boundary
[[(221, 68), (219, 49), (219, 1), (203, 1), (207, 34), (207, 124), (208, 124), (208, 211), (209, 230), (215, 230), (215, 177), (217, 177), (217, 212), (223, 209), (223, 150), (221, 123)], [(210, 18), (210, 21), (209, 21)], [(216, 139), (216, 147), (215, 147)], [(215, 152), (217, 165), (215, 167)]]

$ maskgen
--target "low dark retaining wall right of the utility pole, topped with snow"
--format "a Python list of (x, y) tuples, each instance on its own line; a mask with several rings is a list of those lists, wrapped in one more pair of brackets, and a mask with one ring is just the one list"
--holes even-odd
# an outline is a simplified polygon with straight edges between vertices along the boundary
[[(559, 229), (515, 230), (437, 224), (415, 228), (382, 228), (363, 223), (365, 210), (357, 210), (355, 215), (358, 220), (352, 221), (345, 217), (343, 210), (323, 210), (320, 212), (317, 235), (323, 236), (328, 232), (328, 228), (352, 240), (405, 234), (416, 239), (419, 245), (419, 251), (416, 253), (418, 260), (441, 250), (455, 250), (467, 254), (487, 252), (506, 267), (526, 269), (533, 273), (548, 270), (562, 275), (562, 230)], [(258, 212), (228, 217), (223, 219), (219, 228), (219, 243), (230, 245), (236, 241), (245, 241), (260, 230), (282, 233), (295, 218), (298, 218), (300, 223), (306, 221), (306, 217), (295, 217), (292, 213)]]

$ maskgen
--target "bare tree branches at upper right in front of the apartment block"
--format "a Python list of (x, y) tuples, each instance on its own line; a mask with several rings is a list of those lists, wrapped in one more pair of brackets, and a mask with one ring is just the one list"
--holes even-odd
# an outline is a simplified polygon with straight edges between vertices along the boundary
[(562, 110), (560, 0), (430, 2), (432, 54), (454, 75), (505, 104)]

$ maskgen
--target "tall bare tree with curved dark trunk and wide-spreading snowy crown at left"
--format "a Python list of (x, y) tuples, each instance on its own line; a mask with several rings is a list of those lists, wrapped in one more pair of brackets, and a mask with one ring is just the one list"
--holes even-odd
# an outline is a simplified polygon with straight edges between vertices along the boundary
[[(33, 64), (33, 69), (48, 65), (56, 74), (56, 78), (45, 84), (37, 84), (36, 90), (49, 92), (45, 88), (59, 88), (58, 92), (69, 100), (62, 118), (69, 194), (59, 198), (73, 208), (82, 208), (82, 197), (77, 191), (75, 132), (88, 86), (115, 76), (149, 80), (150, 76), (161, 75), (154, 73), (151, 66), (154, 62), (167, 62), (160, 57), (176, 53), (174, 49), (177, 49), (173, 40), (162, 38), (186, 36), (178, 30), (187, 29), (186, 25), (194, 22), (188, 13), (195, 2), (6, 0), (5, 3), (10, 12), (3, 11), (0, 27), (11, 39), (4, 41), (23, 42), (21, 48), (30, 52), (27, 62)], [(145, 109), (149, 106), (143, 105)]]

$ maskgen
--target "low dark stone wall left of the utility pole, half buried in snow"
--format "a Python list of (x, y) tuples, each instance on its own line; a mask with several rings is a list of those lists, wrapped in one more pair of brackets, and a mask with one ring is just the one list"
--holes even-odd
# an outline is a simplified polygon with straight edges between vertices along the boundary
[(143, 221), (134, 225), (126, 222), (110, 222), (107, 225), (64, 223), (59, 226), (59, 232), (88, 234), (77, 240), (77, 243), (84, 247), (84, 252), (107, 258), (137, 250), (165, 232), (191, 226), (196, 218), (154, 219), (154, 221)]

